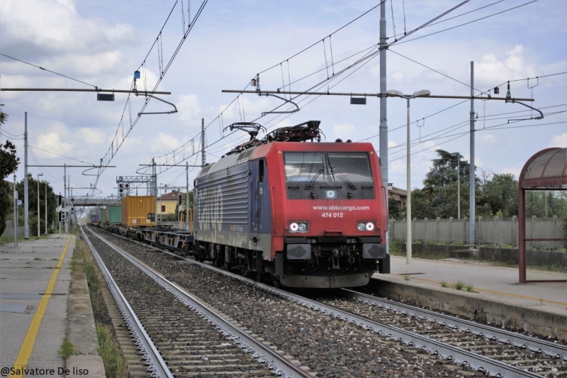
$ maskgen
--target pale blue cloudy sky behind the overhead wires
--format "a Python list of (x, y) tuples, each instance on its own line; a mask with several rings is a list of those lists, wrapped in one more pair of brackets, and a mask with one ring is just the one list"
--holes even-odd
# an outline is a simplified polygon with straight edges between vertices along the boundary
[[(111, 102), (96, 101), (93, 92), (0, 91), (2, 110), (9, 114), (0, 138), (18, 148), (18, 181), (24, 176), (26, 112), (28, 165), (43, 166), (28, 172), (43, 173), (40, 179), (55, 192), (63, 192), (64, 169), (48, 165), (98, 166), (102, 160), (109, 166), (67, 168), (77, 199), (116, 196), (116, 177), (150, 173), (144, 165), (152, 158), (158, 165), (182, 165), (157, 167), (159, 187), (186, 187), (188, 176), (191, 189), (199, 168), (189, 167), (187, 174), (185, 165), (201, 165), (202, 119), (208, 163), (248, 139), (241, 131), (224, 130), (242, 121), (271, 131), (319, 120), (324, 140), (367, 141), (379, 152), (376, 96), (367, 97), (366, 106), (349, 104), (349, 96), (294, 96), (299, 111), (263, 116), (296, 106), (273, 96), (222, 92), (251, 90), (259, 74), (262, 90), (379, 93), (378, 1), (210, 0), (198, 13), (202, 4), (1, 1), (1, 89), (130, 90), (139, 70), (138, 90), (171, 92), (155, 95), (162, 101), (149, 98), (144, 108), (144, 96), (125, 93)], [(567, 1), (470, 1), (420, 28), (459, 4), (386, 2), (392, 43), (386, 52), (387, 89), (469, 96), (471, 62), (475, 95), (504, 97), (510, 81), (511, 96), (534, 99), (520, 102), (540, 109), (544, 119), (533, 119), (539, 113), (521, 104), (475, 100), (474, 153), (477, 174), (518, 177), (539, 150), (567, 147)], [(495, 87), (500, 94), (493, 93)], [(142, 109), (172, 111), (172, 104), (177, 113), (138, 116)], [(406, 189), (407, 101), (391, 97), (387, 104), (388, 182)], [(423, 186), (435, 150), (470, 160), (470, 111), (471, 101), (463, 99), (410, 100), (412, 189)], [(146, 189), (132, 194), (145, 195)]]

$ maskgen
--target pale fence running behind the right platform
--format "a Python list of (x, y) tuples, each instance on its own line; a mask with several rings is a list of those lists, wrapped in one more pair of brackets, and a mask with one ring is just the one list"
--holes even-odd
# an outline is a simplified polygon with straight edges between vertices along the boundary
[[(527, 218), (526, 238), (565, 238), (563, 218)], [(390, 221), (390, 240), (405, 242), (406, 221)], [(464, 219), (414, 219), (412, 221), (412, 241), (430, 243), (469, 243), (469, 220)], [(477, 218), (475, 227), (476, 245), (518, 245), (518, 219), (513, 218)], [(565, 248), (564, 241), (528, 242), (529, 249), (556, 250)]]

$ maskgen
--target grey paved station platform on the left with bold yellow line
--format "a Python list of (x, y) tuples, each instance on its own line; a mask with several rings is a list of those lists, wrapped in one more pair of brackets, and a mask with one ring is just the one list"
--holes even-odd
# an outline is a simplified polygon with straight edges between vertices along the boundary
[[(72, 274), (75, 242), (54, 234), (0, 245), (2, 377), (105, 377), (86, 279)], [(67, 361), (66, 339), (77, 354)]]

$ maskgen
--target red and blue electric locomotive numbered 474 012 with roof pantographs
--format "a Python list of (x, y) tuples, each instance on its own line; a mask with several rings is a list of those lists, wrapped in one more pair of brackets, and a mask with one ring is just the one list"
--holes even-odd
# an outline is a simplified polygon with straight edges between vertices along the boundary
[(315, 143), (319, 123), (262, 140), (257, 123), (229, 126), (251, 138), (195, 179), (197, 260), (286, 287), (359, 287), (390, 272), (380, 159), (371, 143)]

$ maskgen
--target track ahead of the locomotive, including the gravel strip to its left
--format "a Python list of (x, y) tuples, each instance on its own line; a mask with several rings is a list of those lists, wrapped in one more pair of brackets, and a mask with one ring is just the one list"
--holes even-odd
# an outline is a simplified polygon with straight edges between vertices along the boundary
[[(115, 237), (110, 236), (110, 238)], [(140, 250), (147, 251), (148, 248), (150, 247), (145, 245), (140, 247)], [(232, 281), (227, 283), (220, 279), (221, 276), (213, 277), (210, 273), (199, 272), (195, 265), (201, 264), (193, 260), (190, 260), (193, 262), (191, 265), (183, 262), (172, 263), (171, 260), (162, 264), (157, 260), (167, 260), (166, 257), (157, 258), (158, 255), (155, 253), (139, 252), (140, 255), (144, 253), (146, 257), (151, 255), (150, 260), (155, 265), (159, 265), (159, 269), (168, 269), (169, 275), (184, 287), (193, 289), (198, 286), (196, 282), (200, 279), (206, 282), (205, 286), (209, 290), (201, 291), (200, 297), (213, 306), (223, 308), (223, 311), (232, 310), (231, 307), (238, 308), (239, 310), (235, 312), (225, 312), (230, 312), (232, 318), (244, 324), (263, 340), (269, 340), (275, 348), (303, 361), (314, 372), (325, 377), (360, 377), (367, 373), (403, 374), (405, 377), (459, 375), (567, 377), (566, 355), (561, 346), (555, 347), (558, 349), (550, 349), (554, 346), (552, 343), (542, 345), (544, 348), (538, 348), (537, 339), (529, 341), (524, 339), (520, 344), (524, 345), (524, 348), (516, 348), (513, 344), (519, 342), (511, 339), (512, 335), (516, 334), (508, 333), (496, 337), (486, 330), (484, 332), (471, 330), (470, 324), (464, 328), (465, 332), (457, 335), (456, 329), (464, 326), (449, 323), (448, 319), (437, 320), (436, 323), (422, 320), (425, 324), (422, 328), (426, 332), (425, 335), (420, 335), (417, 333), (419, 327), (415, 326), (415, 323), (426, 315), (418, 315), (408, 308), (386, 311), (386, 307), (392, 307), (393, 304), (373, 305), (369, 302), (370, 299), (361, 299), (359, 296), (361, 294), (352, 291), (344, 291), (342, 298), (339, 299), (314, 301), (205, 265), (208, 269), (215, 269), (229, 277)], [(237, 287), (234, 280), (246, 282), (247, 285)], [(225, 295), (214, 295), (212, 292), (215, 291), (212, 288), (215, 286), (219, 288), (219, 285), (220, 291), (216, 292), (225, 291), (223, 293)], [(228, 291), (230, 289), (239, 292), (231, 294)], [(246, 298), (242, 299), (242, 296)], [(354, 296), (356, 299), (349, 299), (347, 296)], [(286, 299), (287, 304), (281, 304), (281, 299)], [(247, 308), (242, 306), (243, 301), (247, 302)], [(367, 311), (363, 311), (363, 308)], [(270, 312), (279, 315), (280, 319), (277, 320), (279, 323), (269, 318)], [(407, 312), (408, 316), (403, 312)], [(391, 318), (403, 318), (405, 321), (401, 323), (398, 321), (398, 326), (387, 324), (386, 313), (391, 313)], [(261, 320), (258, 320), (258, 316)], [(436, 313), (435, 316), (439, 314)], [(433, 326), (438, 325), (445, 331), (449, 330), (449, 333), (443, 335), (441, 330), (434, 329)], [(447, 327), (448, 325), (450, 327)], [(262, 326), (272, 332), (266, 332)], [(441, 336), (436, 340), (432, 335), (437, 334)], [(485, 340), (484, 335), (496, 338), (491, 341), (494, 345), (491, 345), (490, 350), (484, 344), (479, 347), (481, 340)], [(452, 340), (449, 340), (450, 338)], [(504, 340), (505, 343), (499, 343), (498, 340)], [(499, 356), (501, 358), (497, 360)], [(354, 365), (358, 365), (362, 370), (353, 371), (352, 368), (348, 368)]]

